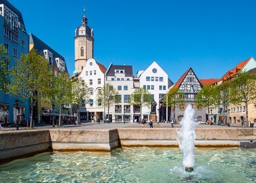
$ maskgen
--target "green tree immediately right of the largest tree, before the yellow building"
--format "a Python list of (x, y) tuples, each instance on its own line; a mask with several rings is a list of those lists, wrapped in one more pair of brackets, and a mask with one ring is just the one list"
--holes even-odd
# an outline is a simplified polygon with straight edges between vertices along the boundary
[(58, 104), (59, 117), (58, 125), (60, 126), (61, 112), (64, 105), (72, 103), (72, 84), (70, 78), (66, 73), (59, 73), (53, 78), (53, 101)]

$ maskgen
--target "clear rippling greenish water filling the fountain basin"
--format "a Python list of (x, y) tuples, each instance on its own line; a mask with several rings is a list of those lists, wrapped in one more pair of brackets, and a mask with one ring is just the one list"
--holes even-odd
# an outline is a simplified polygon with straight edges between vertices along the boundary
[(256, 182), (256, 152), (195, 150), (193, 173), (179, 148), (119, 148), (111, 153), (43, 153), (0, 166), (0, 182)]

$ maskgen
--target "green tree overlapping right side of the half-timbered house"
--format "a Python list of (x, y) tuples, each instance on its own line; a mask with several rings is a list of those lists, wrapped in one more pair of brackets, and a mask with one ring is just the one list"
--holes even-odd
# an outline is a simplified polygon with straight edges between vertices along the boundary
[[(217, 86), (205, 85), (198, 92), (196, 97), (196, 103), (198, 108), (207, 108), (207, 114), (209, 116), (210, 110), (220, 104), (221, 93)], [(209, 120), (209, 117), (208, 117)]]

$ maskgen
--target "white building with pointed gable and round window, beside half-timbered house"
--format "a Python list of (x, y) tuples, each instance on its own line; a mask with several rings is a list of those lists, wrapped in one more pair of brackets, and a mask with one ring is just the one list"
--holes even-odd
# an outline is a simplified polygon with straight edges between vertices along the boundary
[[(139, 78), (140, 81), (140, 88), (148, 90), (148, 92), (152, 94), (154, 101), (156, 101), (156, 103), (158, 104), (156, 107), (158, 122), (163, 121), (166, 110), (160, 111), (161, 97), (163, 97), (163, 95), (166, 95), (168, 89), (173, 85), (173, 82), (171, 82), (167, 73), (165, 73), (165, 71), (160, 67), (160, 65), (158, 65), (158, 63), (156, 63), (156, 61), (154, 61), (146, 70), (138, 71), (137, 78)], [(142, 107), (142, 118), (149, 120), (150, 110), (151, 108)], [(139, 120), (140, 114), (135, 112), (135, 115), (135, 118), (138, 118)]]

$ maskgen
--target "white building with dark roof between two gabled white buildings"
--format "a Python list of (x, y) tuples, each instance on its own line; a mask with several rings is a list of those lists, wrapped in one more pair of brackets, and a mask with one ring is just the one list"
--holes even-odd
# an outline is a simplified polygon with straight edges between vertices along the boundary
[[(110, 107), (107, 118), (110, 122), (133, 122), (133, 107), (129, 105), (129, 99), (133, 92), (133, 66), (113, 65), (110, 63), (106, 71), (106, 83), (110, 83), (119, 93), (119, 103)], [(107, 111), (107, 109), (106, 109)], [(107, 115), (107, 112), (106, 112)]]

